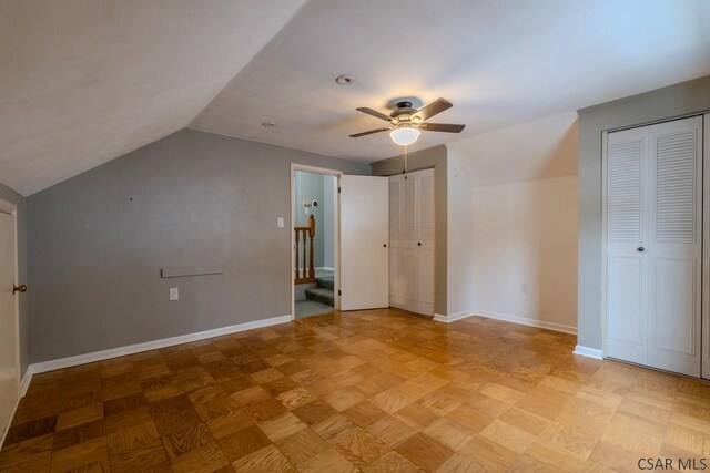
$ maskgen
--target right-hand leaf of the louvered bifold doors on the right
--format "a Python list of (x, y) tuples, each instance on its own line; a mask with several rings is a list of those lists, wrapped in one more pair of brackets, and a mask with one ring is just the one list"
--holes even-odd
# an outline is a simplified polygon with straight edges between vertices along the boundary
[(650, 127), (648, 364), (700, 376), (702, 117)]

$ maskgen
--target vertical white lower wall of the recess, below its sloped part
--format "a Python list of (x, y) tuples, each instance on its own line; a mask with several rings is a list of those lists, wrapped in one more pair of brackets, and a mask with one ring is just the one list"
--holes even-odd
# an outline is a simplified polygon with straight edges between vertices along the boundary
[(577, 176), (477, 187), (473, 200), (473, 308), (574, 331)]

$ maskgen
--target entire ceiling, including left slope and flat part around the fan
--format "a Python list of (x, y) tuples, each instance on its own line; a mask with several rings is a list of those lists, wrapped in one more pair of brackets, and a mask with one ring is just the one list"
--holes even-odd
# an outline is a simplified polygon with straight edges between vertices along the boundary
[[(371, 162), (710, 74), (706, 0), (0, 0), (0, 182), (29, 195), (185, 126)], [(357, 78), (335, 83), (339, 74)], [(278, 126), (265, 128), (262, 122)]]

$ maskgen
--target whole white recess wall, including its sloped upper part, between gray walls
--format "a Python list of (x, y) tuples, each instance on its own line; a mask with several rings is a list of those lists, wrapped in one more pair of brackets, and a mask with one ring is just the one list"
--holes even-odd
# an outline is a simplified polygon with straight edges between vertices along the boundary
[(478, 313), (575, 331), (576, 113), (447, 148), (448, 317)]

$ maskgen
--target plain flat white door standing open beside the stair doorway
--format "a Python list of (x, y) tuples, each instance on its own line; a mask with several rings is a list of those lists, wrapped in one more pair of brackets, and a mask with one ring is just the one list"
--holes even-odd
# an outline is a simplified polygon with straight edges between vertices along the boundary
[(389, 304), (387, 177), (341, 176), (341, 310)]

